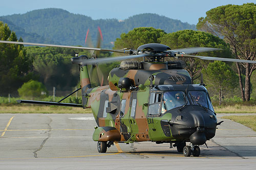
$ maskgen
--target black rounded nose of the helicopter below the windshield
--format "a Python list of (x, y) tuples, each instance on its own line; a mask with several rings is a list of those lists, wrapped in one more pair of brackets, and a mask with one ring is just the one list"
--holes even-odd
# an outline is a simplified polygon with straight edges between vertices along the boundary
[(217, 119), (214, 112), (200, 106), (187, 106), (169, 122), (173, 137), (189, 140), (192, 144), (202, 145), (216, 133)]

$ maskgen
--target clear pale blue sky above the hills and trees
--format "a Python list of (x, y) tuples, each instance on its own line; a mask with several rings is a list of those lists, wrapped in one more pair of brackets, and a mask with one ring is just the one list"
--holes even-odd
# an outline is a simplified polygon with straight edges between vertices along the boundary
[(136, 14), (155, 13), (196, 25), (198, 18), (205, 17), (206, 11), (212, 8), (244, 3), (256, 4), (256, 0), (12, 0), (1, 2), (0, 16), (24, 14), (36, 9), (61, 8), (74, 14), (90, 16), (92, 19), (124, 20)]

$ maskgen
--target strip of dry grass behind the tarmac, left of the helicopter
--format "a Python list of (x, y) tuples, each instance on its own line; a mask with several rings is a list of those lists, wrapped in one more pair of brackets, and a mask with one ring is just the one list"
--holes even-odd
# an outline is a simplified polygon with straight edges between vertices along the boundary
[(91, 109), (67, 106), (0, 105), (0, 113), (92, 113)]

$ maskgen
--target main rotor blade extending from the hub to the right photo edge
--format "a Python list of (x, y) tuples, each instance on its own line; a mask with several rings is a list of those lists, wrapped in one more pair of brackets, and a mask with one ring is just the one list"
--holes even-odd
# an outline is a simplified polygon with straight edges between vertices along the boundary
[(240, 59), (232, 59), (232, 58), (194, 56), (194, 55), (189, 55), (189, 54), (176, 54), (176, 57), (193, 57), (193, 58), (199, 58), (201, 60), (218, 60), (218, 61), (232, 61), (232, 62), (241, 62), (241, 63), (256, 63), (256, 61), (251, 61), (251, 60), (240, 60)]

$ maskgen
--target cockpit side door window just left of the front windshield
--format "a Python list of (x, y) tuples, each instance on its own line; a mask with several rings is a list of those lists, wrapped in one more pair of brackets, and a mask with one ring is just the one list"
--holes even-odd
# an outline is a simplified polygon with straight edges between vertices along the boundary
[(148, 102), (148, 116), (161, 115), (161, 103), (163, 98), (163, 91), (154, 91), (150, 93), (150, 101)]

